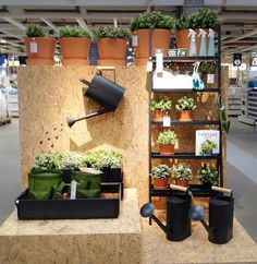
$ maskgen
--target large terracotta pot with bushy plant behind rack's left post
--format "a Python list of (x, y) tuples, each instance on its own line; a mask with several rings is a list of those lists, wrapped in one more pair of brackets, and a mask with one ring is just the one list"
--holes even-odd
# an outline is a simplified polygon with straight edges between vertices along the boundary
[(131, 21), (131, 32), (137, 36), (136, 64), (145, 65), (149, 57), (149, 28), (152, 28), (152, 49), (162, 49), (164, 56), (169, 49), (171, 29), (174, 20), (158, 11), (148, 11)]

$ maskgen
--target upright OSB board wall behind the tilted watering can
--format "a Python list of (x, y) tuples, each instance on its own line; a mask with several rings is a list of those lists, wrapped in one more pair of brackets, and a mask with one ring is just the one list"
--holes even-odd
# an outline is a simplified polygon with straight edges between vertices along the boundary
[[(27, 173), (33, 167), (34, 156), (39, 153), (114, 148), (122, 152), (124, 157), (125, 185), (136, 187), (139, 200), (146, 201), (148, 195), (146, 69), (145, 67), (115, 68), (117, 83), (126, 88), (115, 112), (77, 122), (70, 129), (65, 123), (66, 117), (78, 118), (85, 112), (99, 109), (97, 104), (83, 96), (82, 89), (85, 85), (79, 82), (82, 77), (90, 81), (95, 73), (94, 67), (26, 67), (19, 70), (22, 189), (27, 187)], [(113, 72), (105, 72), (105, 75), (113, 80)], [(227, 79), (228, 72), (223, 71), (223, 81)], [(181, 94), (172, 94), (174, 103), (179, 96)], [(197, 96), (197, 100), (201, 101), (195, 112), (197, 118), (215, 117), (216, 98), (212, 94)], [(195, 128), (178, 129), (180, 151), (184, 151), (184, 145), (193, 147)]]

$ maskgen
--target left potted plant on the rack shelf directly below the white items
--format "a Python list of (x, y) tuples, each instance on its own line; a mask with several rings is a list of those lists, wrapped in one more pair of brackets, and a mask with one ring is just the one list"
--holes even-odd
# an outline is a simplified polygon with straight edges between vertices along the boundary
[(161, 96), (158, 98), (154, 98), (151, 100), (151, 111), (152, 111), (152, 119), (155, 121), (162, 121), (166, 113), (171, 109), (172, 101), (167, 96)]

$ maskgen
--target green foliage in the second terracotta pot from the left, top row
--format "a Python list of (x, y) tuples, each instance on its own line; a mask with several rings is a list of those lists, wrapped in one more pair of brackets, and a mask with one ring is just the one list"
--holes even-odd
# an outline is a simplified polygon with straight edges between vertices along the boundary
[(81, 38), (91, 38), (91, 33), (79, 26), (61, 26), (58, 28), (59, 37), (81, 37)]

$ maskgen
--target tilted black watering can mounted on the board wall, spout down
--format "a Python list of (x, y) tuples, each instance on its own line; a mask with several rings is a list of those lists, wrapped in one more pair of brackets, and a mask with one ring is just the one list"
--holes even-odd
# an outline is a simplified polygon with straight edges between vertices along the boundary
[(83, 118), (66, 118), (66, 122), (70, 128), (75, 122), (83, 119), (88, 119), (91, 117), (103, 115), (106, 112), (114, 111), (125, 92), (124, 87), (118, 85), (109, 79), (103, 77), (99, 70), (97, 71), (97, 74), (93, 77), (91, 82), (88, 82), (84, 79), (81, 79), (79, 81), (88, 86), (87, 91), (85, 92), (85, 96), (94, 99), (103, 108), (99, 111), (88, 113)]

